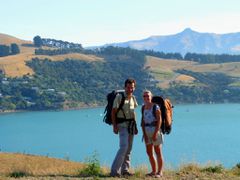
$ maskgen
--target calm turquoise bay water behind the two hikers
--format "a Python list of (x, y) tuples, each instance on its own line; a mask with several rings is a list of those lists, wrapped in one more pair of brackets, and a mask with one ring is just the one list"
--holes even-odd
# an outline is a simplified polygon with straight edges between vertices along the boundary
[[(22, 112), (0, 115), (0, 149), (85, 161), (94, 152), (110, 166), (118, 149), (118, 136), (102, 122), (103, 108), (74, 111)], [(139, 126), (134, 139), (132, 164), (149, 164)], [(166, 166), (183, 163), (240, 162), (240, 104), (176, 105), (173, 130), (164, 137)]]

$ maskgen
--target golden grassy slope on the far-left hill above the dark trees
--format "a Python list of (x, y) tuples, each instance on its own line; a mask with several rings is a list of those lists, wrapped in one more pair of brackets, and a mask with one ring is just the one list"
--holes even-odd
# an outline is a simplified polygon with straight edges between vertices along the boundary
[[(11, 43), (16, 43), (19, 46), (20, 54), (0, 57), (0, 69), (8, 77), (21, 77), (27, 74), (34, 74), (34, 71), (26, 66), (26, 62), (32, 58), (39, 59), (50, 59), (53, 61), (63, 61), (66, 58), (69, 59), (80, 59), (84, 61), (102, 61), (103, 59), (94, 55), (85, 55), (79, 53), (72, 53), (67, 55), (56, 55), (56, 56), (46, 56), (46, 55), (35, 55), (35, 47), (31, 41), (24, 41), (13, 36), (6, 34), (0, 34), (0, 44), (10, 45)], [(27, 46), (26, 46), (27, 44)], [(50, 49), (49, 47), (43, 47), (43, 49)]]

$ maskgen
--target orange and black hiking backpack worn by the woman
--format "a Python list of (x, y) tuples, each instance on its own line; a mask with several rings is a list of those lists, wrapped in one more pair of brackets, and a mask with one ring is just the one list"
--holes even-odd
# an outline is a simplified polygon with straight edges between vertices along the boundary
[[(152, 103), (157, 104), (161, 110), (162, 125), (161, 131), (163, 134), (169, 134), (172, 130), (172, 114), (173, 105), (169, 99), (163, 99), (161, 96), (153, 96)], [(142, 107), (142, 114), (143, 114)], [(153, 115), (156, 117), (156, 105), (153, 106)]]

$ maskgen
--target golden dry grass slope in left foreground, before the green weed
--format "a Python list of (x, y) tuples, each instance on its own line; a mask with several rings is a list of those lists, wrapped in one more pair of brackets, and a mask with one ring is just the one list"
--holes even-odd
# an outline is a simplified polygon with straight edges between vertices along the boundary
[(23, 172), (27, 175), (76, 176), (83, 164), (35, 155), (0, 153), (0, 174)]

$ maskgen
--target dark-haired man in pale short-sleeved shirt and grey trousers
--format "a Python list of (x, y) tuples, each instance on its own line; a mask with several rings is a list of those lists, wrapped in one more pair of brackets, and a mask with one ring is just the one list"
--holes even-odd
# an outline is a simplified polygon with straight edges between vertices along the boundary
[[(132, 150), (133, 136), (138, 133), (136, 114), (134, 111), (138, 104), (133, 96), (135, 86), (136, 81), (134, 79), (127, 79), (125, 81), (124, 97), (121, 94), (118, 94), (113, 102), (113, 132), (119, 134), (120, 140), (120, 147), (111, 167), (111, 176), (113, 177), (132, 175), (129, 172), (130, 154)], [(122, 108), (119, 109), (122, 98), (124, 98), (124, 103)]]

